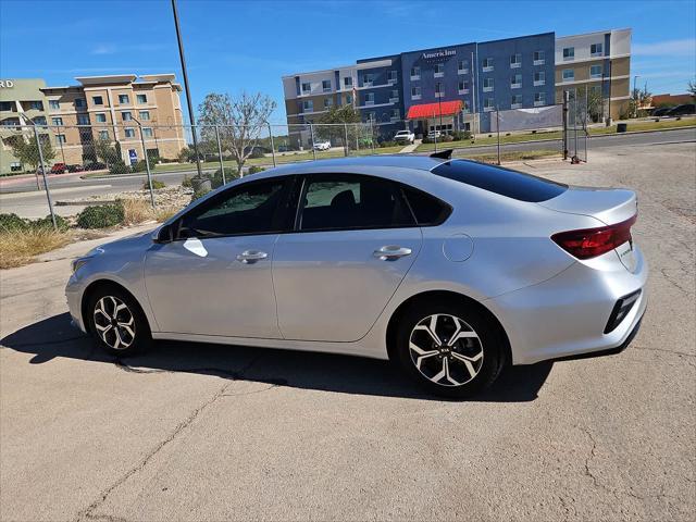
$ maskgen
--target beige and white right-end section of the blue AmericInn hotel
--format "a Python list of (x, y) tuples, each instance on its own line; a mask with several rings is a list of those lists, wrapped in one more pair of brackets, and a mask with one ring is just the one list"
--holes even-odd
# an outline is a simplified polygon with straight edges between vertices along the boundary
[(631, 29), (611, 29), (556, 39), (556, 102), (587, 92), (601, 95), (602, 114), (627, 114), (631, 98)]

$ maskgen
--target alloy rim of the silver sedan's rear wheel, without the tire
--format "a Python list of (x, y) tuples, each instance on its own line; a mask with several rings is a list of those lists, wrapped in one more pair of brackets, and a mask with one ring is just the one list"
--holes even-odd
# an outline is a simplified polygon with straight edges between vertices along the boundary
[(428, 315), (411, 331), (409, 352), (417, 370), (440, 386), (461, 386), (483, 366), (483, 344), (460, 318)]

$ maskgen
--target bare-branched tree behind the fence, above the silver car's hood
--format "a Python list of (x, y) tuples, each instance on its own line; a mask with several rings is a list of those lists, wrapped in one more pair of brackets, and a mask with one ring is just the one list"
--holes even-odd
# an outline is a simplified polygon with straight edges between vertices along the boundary
[(261, 92), (241, 92), (238, 98), (211, 92), (198, 105), (202, 140), (216, 145), (214, 125), (219, 125), (223, 151), (232, 152), (237, 175), (241, 176), (244, 164), (253, 153), (275, 107), (275, 101)]

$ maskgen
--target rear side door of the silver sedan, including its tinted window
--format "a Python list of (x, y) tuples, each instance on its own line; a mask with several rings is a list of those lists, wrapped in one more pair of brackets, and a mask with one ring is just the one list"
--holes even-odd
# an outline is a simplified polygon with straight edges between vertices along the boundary
[(413, 264), (421, 231), (399, 186), (378, 177), (308, 175), (299, 201), (295, 232), (273, 257), (281, 333), (360, 339)]

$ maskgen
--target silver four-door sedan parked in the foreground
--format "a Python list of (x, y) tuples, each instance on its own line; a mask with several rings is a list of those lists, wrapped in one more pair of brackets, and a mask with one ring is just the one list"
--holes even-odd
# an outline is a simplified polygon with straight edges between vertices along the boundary
[(647, 302), (636, 195), (448, 152), (228, 183), (76, 259), (73, 321), (122, 357), (154, 338), (389, 358), (453, 397), (508, 363), (623, 350)]

